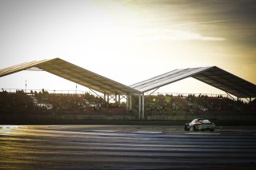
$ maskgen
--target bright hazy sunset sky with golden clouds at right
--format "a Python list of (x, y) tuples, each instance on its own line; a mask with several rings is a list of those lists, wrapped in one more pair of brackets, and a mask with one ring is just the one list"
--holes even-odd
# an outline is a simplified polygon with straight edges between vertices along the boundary
[[(256, 84), (254, 0), (0, 0), (0, 69), (60, 57), (124, 85), (218, 66)], [(0, 77), (1, 89), (82, 90), (46, 72)], [(160, 93), (224, 93), (193, 78)]]

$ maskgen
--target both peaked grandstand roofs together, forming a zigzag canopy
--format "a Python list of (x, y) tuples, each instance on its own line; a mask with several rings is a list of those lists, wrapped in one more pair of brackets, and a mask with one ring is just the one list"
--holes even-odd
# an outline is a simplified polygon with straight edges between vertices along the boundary
[(0, 77), (31, 68), (45, 70), (58, 77), (65, 78), (79, 85), (86, 86), (89, 89), (107, 94), (145, 93), (152, 89), (169, 85), (175, 81), (193, 77), (198, 81), (214, 86), (217, 89), (222, 89), (226, 93), (230, 93), (236, 97), (256, 97), (256, 85), (216, 66), (174, 69), (173, 71), (152, 77), (146, 81), (127, 86), (122, 85), (117, 81), (110, 80), (109, 78), (102, 77), (97, 73), (90, 72), (87, 69), (83, 69), (78, 65), (71, 64), (60, 58), (54, 58), (42, 61), (25, 62), (6, 69), (0, 69)]

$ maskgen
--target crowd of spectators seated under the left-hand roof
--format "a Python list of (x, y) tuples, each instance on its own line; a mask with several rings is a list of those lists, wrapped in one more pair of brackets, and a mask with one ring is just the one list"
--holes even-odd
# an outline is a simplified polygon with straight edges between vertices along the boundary
[(0, 113), (37, 114), (118, 114), (125, 113), (126, 106), (108, 103), (102, 97), (90, 93), (48, 93), (18, 90), (15, 93), (0, 92)]

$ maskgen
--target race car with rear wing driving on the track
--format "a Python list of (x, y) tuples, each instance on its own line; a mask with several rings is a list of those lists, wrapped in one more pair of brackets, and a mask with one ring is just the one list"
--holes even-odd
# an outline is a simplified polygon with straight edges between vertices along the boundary
[(211, 132), (214, 132), (215, 125), (213, 122), (210, 122), (208, 119), (198, 118), (198, 119), (194, 119), (190, 123), (187, 123), (184, 129), (186, 131), (190, 131), (190, 129), (193, 129), (194, 131), (210, 130)]

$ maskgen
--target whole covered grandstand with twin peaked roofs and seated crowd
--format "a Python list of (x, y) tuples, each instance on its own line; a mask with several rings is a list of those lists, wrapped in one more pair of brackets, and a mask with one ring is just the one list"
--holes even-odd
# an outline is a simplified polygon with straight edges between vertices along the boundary
[[(186, 121), (192, 117), (255, 120), (256, 85), (218, 67), (175, 69), (134, 85), (122, 85), (97, 73), (54, 58), (32, 61), (1, 69), (0, 77), (22, 70), (40, 69), (86, 86), (93, 93), (56, 93), (22, 89), (0, 92), (0, 117), (10, 120), (162, 120)], [(226, 92), (226, 96), (208, 94), (154, 93), (164, 85), (193, 77)], [(153, 90), (153, 93), (146, 95)], [(102, 93), (97, 96), (94, 91)], [(234, 99), (233, 97), (237, 97)], [(126, 99), (122, 102), (121, 99)], [(247, 99), (247, 102), (240, 99)], [(113, 99), (114, 102), (110, 102)]]

